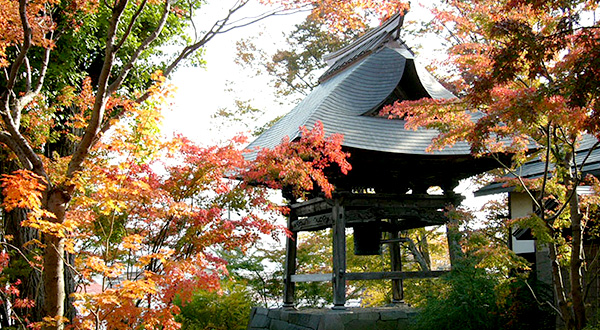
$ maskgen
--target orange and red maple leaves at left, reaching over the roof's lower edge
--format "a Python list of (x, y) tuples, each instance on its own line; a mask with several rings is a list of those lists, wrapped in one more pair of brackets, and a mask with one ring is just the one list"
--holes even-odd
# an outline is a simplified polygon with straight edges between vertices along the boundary
[[(341, 137), (326, 138), (320, 124), (248, 162), (242, 138), (212, 147), (164, 140), (158, 104), (133, 107), (92, 150), (60, 224), (44, 220), (52, 215), (40, 208), (43, 178), (23, 170), (2, 177), (4, 207), (31, 210), (22, 225), (66, 238), (75, 256), (68, 265), (78, 283), (75, 328), (177, 329), (175, 298), (185, 303), (194, 290), (218, 290), (228, 276), (216, 251), (245, 250), (283, 230), (274, 219), (285, 209), (268, 200), (267, 187), (330, 194), (324, 171), (349, 169)], [(18, 295), (17, 286), (10, 287)]]

